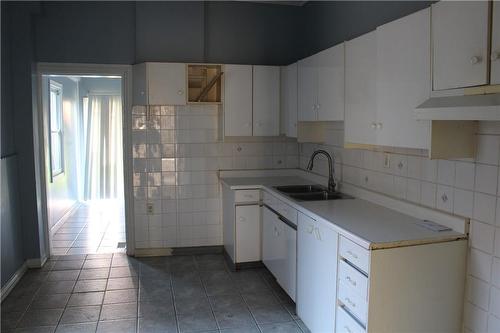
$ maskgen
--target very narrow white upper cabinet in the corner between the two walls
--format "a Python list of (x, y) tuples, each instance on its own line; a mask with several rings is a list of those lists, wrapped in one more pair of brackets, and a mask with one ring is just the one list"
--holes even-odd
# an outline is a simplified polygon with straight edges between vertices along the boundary
[(297, 67), (281, 67), (281, 133), (290, 138), (297, 137)]

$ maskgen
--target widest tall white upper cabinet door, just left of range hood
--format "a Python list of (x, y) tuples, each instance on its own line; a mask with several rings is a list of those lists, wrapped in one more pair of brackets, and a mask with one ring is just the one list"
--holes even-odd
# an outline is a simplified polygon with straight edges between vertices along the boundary
[(377, 143), (427, 149), (429, 121), (415, 107), (430, 96), (430, 9), (377, 28)]

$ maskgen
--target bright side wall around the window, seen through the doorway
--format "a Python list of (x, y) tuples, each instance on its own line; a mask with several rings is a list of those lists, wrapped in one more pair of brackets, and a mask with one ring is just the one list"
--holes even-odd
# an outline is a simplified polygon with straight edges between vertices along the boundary
[[(47, 77), (43, 78), (44, 96), (48, 96)], [(78, 84), (65, 77), (52, 77), (63, 86), (63, 136), (64, 136), (64, 173), (57, 175), (50, 182), (50, 165), (47, 170), (47, 198), (49, 212), (49, 228), (54, 225), (77, 203), (76, 151), (78, 126)], [(44, 98), (44, 116), (48, 117), (48, 98)], [(46, 124), (48, 124), (46, 122)], [(45, 133), (49, 133), (46, 125)], [(48, 147), (48, 142), (45, 142)], [(47, 150), (48, 152), (48, 150)], [(48, 159), (47, 159), (48, 161)]]

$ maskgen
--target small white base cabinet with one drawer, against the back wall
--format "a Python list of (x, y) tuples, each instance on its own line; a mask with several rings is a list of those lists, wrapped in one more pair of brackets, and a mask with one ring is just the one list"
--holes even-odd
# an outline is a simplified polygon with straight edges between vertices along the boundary
[(224, 251), (234, 269), (261, 260), (260, 190), (222, 188)]

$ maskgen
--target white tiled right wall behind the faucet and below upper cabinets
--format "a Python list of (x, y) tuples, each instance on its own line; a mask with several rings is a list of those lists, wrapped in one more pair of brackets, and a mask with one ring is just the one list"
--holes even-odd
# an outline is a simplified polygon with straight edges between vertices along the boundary
[[(305, 169), (315, 149), (333, 152), (337, 178), (415, 204), (472, 219), (464, 326), (466, 332), (500, 332), (500, 122), (480, 122), (475, 160), (429, 160), (425, 152), (387, 148), (346, 150), (337, 124), (328, 145), (300, 144)], [(401, 162), (401, 168), (397, 166)], [(313, 172), (327, 175), (326, 165)], [(443, 200), (445, 198), (446, 200)]]

